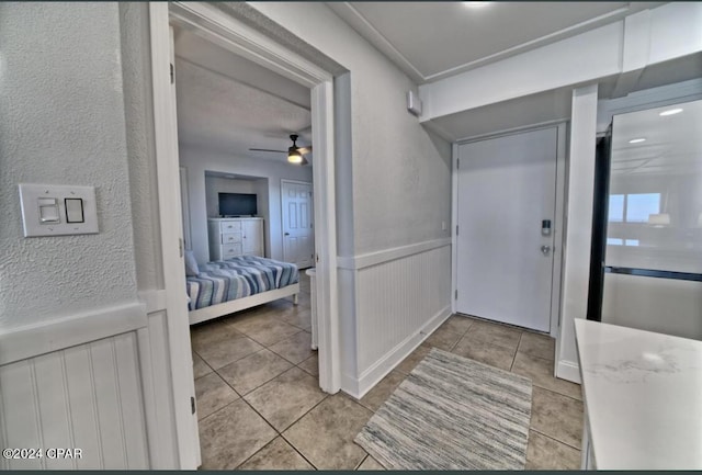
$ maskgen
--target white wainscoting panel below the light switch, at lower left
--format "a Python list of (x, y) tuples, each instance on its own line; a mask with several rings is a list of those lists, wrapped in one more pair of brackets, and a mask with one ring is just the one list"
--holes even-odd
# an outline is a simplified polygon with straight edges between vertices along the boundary
[(136, 331), (0, 366), (3, 448), (81, 449), (3, 470), (149, 468)]

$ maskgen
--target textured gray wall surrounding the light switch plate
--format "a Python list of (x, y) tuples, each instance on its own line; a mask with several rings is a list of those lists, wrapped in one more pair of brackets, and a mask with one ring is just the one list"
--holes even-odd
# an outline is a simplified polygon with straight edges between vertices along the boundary
[[(136, 295), (116, 3), (0, 3), (0, 331)], [(18, 183), (94, 185), (100, 234), (24, 238)]]

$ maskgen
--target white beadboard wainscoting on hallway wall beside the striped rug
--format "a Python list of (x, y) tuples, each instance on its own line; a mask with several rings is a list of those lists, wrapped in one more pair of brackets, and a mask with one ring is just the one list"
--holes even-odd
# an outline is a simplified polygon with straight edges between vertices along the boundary
[(362, 342), (356, 357), (360, 378), (449, 312), (451, 246), (359, 269), (355, 302), (358, 341)]

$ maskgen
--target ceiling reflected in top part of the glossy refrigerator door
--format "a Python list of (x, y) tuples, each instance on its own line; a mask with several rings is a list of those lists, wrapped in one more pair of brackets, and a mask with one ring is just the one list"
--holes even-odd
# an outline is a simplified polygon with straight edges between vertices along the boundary
[[(682, 109), (675, 115), (661, 112)], [(612, 172), (702, 174), (702, 101), (666, 105), (614, 116)], [(632, 139), (644, 142), (631, 144)]]

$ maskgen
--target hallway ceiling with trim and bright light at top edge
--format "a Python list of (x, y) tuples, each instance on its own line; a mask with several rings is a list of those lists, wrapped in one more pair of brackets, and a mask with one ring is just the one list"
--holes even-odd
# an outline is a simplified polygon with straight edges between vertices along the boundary
[(328, 2), (419, 84), (623, 19), (664, 2)]

